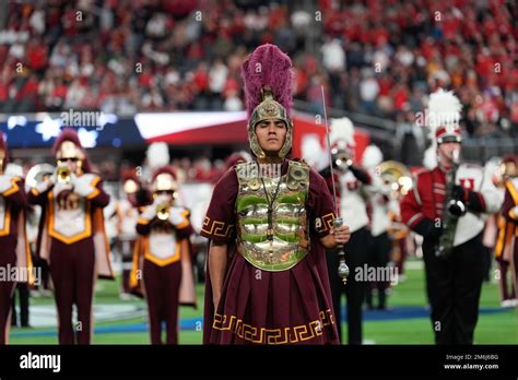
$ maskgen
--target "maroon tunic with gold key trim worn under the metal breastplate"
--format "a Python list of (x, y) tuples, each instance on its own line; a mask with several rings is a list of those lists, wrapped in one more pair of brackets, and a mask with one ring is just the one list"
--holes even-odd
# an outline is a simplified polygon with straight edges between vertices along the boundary
[[(287, 171), (287, 161), (282, 175)], [(339, 344), (326, 254), (319, 238), (329, 234), (333, 202), (323, 178), (313, 169), (306, 211), (310, 251), (295, 266), (281, 272), (261, 271), (236, 250), (235, 168), (216, 183), (201, 235), (226, 242), (228, 265), (216, 312), (207, 271), (204, 344)], [(322, 223), (318, 229), (315, 222)], [(210, 257), (209, 257), (210, 260)]]

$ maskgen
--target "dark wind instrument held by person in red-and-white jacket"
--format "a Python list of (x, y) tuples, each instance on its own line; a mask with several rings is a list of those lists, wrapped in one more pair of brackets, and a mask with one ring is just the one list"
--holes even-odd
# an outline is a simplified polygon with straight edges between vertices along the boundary
[(459, 151), (454, 151), (451, 170), (447, 174), (445, 214), (443, 218), (443, 234), (439, 244), (435, 248), (435, 256), (447, 258), (454, 250), (455, 233), (459, 218), (466, 214), (466, 205), (462, 201), (454, 198), (454, 187), (459, 168)]

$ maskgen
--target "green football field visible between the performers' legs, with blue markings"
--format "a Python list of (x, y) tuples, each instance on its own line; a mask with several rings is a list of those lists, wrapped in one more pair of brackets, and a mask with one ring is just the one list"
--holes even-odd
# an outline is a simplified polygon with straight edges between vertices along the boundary
[[(364, 340), (367, 344), (433, 344), (432, 325), (425, 306), (423, 269), (412, 262), (407, 281), (392, 287), (388, 311), (364, 312)], [(149, 344), (145, 304), (140, 299), (120, 300), (119, 283), (99, 281), (96, 308), (129, 308), (114, 318), (97, 319), (94, 344)], [(180, 308), (180, 344), (200, 344), (202, 336), (203, 285), (198, 285), (199, 308)], [(52, 298), (32, 298), (31, 307), (54, 310)], [(106, 317), (106, 316), (105, 316)], [(36, 316), (32, 316), (32, 321)], [(33, 323), (34, 324), (34, 323)], [(346, 324), (342, 323), (344, 336)], [(495, 283), (484, 283), (481, 311), (475, 331), (476, 344), (518, 344), (518, 310), (499, 307)], [(10, 344), (57, 344), (55, 326), (11, 330)]]

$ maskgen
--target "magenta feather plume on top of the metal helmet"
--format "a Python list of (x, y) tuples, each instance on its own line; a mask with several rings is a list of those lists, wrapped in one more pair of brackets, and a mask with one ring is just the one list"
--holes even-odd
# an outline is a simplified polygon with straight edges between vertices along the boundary
[(292, 60), (275, 45), (259, 46), (242, 66), (248, 116), (262, 102), (261, 88), (270, 86), (274, 99), (290, 115), (293, 96)]

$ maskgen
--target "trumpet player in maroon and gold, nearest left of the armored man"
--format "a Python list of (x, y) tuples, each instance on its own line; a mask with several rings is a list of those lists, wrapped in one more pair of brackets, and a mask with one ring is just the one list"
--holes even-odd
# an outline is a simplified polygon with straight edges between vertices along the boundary
[(162, 323), (166, 323), (166, 344), (178, 343), (178, 306), (196, 307), (189, 236), (193, 229), (189, 210), (175, 205), (178, 191), (170, 166), (152, 176), (153, 204), (138, 219), (130, 285), (145, 296), (151, 344), (162, 344)]

